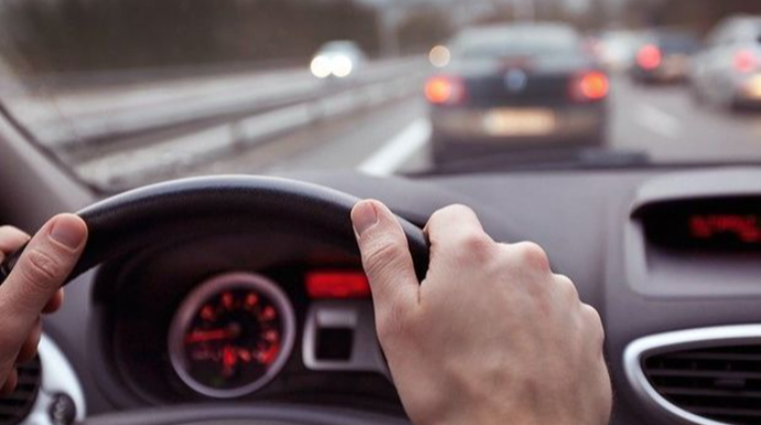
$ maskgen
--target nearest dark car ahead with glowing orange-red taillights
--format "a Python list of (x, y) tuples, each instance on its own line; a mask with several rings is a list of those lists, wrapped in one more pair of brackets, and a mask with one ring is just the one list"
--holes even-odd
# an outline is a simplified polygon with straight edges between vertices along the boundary
[(570, 26), (472, 28), (448, 48), (426, 84), (435, 162), (604, 144), (609, 79)]

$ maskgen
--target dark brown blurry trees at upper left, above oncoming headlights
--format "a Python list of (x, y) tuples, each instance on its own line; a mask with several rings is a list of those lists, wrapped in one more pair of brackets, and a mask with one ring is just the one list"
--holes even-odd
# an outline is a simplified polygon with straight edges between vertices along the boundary
[(6, 0), (0, 31), (40, 74), (308, 61), (336, 39), (377, 51), (375, 11), (351, 0)]

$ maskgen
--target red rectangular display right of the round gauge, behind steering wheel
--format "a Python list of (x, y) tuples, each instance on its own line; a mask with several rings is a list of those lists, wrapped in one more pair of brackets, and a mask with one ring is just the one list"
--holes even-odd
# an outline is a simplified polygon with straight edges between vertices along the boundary
[(306, 285), (310, 298), (368, 298), (371, 294), (367, 276), (355, 271), (310, 272)]

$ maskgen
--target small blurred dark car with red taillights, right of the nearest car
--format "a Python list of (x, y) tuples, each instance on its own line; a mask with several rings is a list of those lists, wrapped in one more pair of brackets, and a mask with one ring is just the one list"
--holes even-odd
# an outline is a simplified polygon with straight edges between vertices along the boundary
[(695, 34), (682, 30), (654, 30), (636, 52), (631, 75), (635, 83), (683, 83), (689, 59), (700, 47)]

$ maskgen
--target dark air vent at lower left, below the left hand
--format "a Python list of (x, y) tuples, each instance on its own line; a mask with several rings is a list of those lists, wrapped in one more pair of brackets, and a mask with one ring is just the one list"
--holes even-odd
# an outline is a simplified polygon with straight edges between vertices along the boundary
[(0, 425), (21, 423), (34, 405), (42, 380), (40, 358), (19, 367), (19, 384), (15, 391), (0, 397)]

